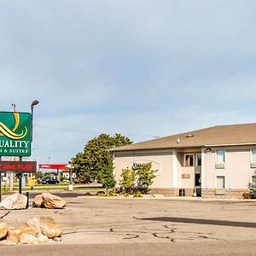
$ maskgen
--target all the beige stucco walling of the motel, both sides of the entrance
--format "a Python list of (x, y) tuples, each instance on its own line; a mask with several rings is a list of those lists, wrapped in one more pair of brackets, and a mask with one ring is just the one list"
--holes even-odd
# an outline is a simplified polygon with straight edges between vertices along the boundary
[[(125, 167), (131, 167), (133, 163), (152, 162), (153, 169), (157, 170), (154, 183), (151, 186), (152, 189), (176, 189), (175, 195), (177, 195), (178, 189), (190, 189), (190, 194), (193, 195), (195, 173), (201, 173), (203, 195), (207, 191), (206, 188), (209, 189), (208, 192), (206, 192), (207, 195), (210, 195), (211, 189), (214, 194), (216, 190), (216, 177), (224, 176), (225, 189), (228, 191), (226, 194), (230, 193), (231, 195), (232, 191), (234, 191), (234, 193), (237, 193), (236, 197), (241, 197), (241, 191), (245, 191), (248, 188), (247, 185), (251, 182), (253, 172), (256, 169), (250, 166), (250, 147), (212, 147), (210, 153), (207, 153), (206, 149), (207, 148), (201, 148), (202, 166), (189, 167), (183, 166), (184, 154), (188, 152), (193, 154), (199, 153), (198, 148), (196, 150), (195, 148), (194, 150), (193, 148), (183, 149), (179, 152), (172, 149), (116, 152), (114, 153), (114, 175), (119, 183), (120, 174)], [(216, 149), (226, 149), (224, 169), (215, 168)], [(182, 177), (183, 174), (185, 174), (186, 177)], [(170, 191), (168, 193), (171, 195)], [(187, 194), (188, 193), (186, 193), (186, 195)], [(215, 194), (213, 194), (212, 196), (215, 196)]]

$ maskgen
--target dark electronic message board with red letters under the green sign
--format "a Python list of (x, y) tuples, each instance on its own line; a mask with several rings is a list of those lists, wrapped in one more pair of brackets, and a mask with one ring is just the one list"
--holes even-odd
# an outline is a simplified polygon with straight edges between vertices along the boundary
[(0, 172), (37, 172), (37, 162), (0, 161)]

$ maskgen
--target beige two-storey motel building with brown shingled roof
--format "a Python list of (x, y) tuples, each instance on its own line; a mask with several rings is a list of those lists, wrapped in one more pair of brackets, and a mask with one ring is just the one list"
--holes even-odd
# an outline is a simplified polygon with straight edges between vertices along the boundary
[(256, 183), (256, 123), (219, 125), (110, 149), (114, 175), (152, 163), (151, 194), (241, 198)]

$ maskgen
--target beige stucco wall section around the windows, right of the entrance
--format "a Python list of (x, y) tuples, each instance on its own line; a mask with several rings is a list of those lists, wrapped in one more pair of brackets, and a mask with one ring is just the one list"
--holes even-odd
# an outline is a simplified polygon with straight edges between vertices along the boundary
[[(226, 150), (224, 169), (216, 169), (216, 149)], [(212, 148), (211, 153), (204, 153), (204, 188), (216, 188), (216, 176), (225, 177), (226, 189), (247, 189), (254, 169), (250, 167), (251, 151), (246, 147)]]

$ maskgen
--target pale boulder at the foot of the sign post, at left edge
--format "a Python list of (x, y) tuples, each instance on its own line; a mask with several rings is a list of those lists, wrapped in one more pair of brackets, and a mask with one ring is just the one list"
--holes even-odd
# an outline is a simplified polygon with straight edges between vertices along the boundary
[(27, 197), (26, 195), (13, 194), (9, 195), (0, 203), (0, 208), (3, 207), (7, 210), (20, 210), (26, 209)]

